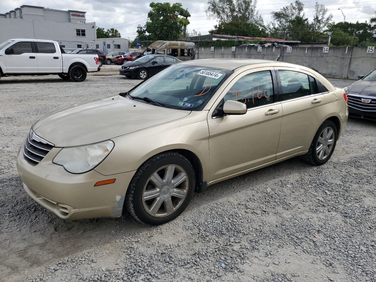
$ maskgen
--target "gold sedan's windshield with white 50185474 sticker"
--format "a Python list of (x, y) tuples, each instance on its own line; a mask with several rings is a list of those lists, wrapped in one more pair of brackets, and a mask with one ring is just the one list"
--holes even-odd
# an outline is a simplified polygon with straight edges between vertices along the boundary
[(166, 108), (200, 111), (231, 73), (221, 68), (172, 65), (133, 88), (129, 94), (164, 103)]

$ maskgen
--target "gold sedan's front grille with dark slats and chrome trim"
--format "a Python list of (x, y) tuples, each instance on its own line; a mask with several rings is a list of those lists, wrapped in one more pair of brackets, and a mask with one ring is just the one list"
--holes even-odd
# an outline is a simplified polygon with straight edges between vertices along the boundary
[(30, 130), (23, 147), (23, 153), (29, 164), (37, 165), (52, 148), (52, 143), (36, 135), (33, 130)]

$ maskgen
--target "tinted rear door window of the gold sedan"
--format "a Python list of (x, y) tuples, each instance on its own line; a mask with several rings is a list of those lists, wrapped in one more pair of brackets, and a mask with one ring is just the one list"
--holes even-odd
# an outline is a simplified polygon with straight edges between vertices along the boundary
[(308, 74), (289, 70), (279, 70), (278, 73), (282, 84), (282, 94), (279, 94), (280, 101), (311, 95)]

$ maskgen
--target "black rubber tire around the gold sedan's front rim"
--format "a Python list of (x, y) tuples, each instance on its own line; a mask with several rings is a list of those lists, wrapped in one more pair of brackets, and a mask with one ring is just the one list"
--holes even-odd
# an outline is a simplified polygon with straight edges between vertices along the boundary
[[(159, 168), (166, 165), (179, 166), (186, 172), (188, 177), (188, 191), (186, 192), (185, 199), (180, 203), (179, 207), (176, 207), (175, 211), (164, 217), (155, 217), (149, 214), (144, 208), (143, 191), (149, 177)], [(195, 182), (194, 170), (188, 159), (176, 152), (160, 153), (144, 162), (133, 176), (125, 196), (126, 207), (130, 214), (141, 223), (148, 225), (164, 224), (178, 217), (188, 206), (193, 196)], [(163, 205), (164, 203), (162, 203), (162, 206)]]

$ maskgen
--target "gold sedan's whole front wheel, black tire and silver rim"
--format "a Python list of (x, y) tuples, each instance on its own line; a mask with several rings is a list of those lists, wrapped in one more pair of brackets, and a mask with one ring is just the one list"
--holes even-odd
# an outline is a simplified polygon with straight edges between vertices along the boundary
[(190, 203), (195, 174), (191, 163), (176, 152), (160, 153), (138, 169), (126, 194), (136, 220), (159, 225), (179, 216)]

